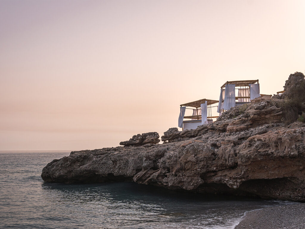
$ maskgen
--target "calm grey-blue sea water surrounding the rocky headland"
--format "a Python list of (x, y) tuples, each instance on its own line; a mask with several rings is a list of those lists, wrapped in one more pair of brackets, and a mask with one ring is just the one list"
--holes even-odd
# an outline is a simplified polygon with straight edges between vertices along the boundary
[(42, 168), (69, 154), (0, 151), (0, 228), (234, 228), (246, 211), (293, 204), (135, 183), (44, 183)]

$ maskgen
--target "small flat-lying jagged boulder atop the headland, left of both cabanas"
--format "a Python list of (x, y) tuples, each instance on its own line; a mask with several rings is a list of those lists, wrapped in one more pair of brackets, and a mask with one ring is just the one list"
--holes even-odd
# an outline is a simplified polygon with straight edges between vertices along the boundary
[(145, 144), (157, 144), (160, 142), (157, 132), (142, 133), (132, 136), (129, 141), (120, 142), (123, 146), (142, 146)]

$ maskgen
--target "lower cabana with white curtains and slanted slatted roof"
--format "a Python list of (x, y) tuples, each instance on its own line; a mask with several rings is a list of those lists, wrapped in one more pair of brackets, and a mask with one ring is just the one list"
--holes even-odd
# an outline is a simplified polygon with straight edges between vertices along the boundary
[[(218, 103), (217, 100), (197, 100), (194, 102), (181, 104), (180, 105), (180, 115), (178, 120), (178, 126), (184, 129), (196, 129), (197, 126), (206, 123), (212, 123), (213, 118), (218, 118), (219, 116), (212, 116), (212, 104)], [(185, 109), (193, 110), (193, 114), (190, 116), (184, 116)], [(191, 120), (183, 120), (191, 119)]]

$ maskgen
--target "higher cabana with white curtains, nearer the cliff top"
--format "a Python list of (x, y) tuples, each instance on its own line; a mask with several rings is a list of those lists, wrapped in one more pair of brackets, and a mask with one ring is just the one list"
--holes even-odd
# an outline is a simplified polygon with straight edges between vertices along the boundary
[[(219, 105), (217, 112), (222, 113), (231, 107), (249, 103), (260, 97), (260, 85), (257, 80), (227, 81), (220, 87)], [(237, 90), (237, 96), (235, 93)], [(236, 101), (237, 100), (237, 101)]]

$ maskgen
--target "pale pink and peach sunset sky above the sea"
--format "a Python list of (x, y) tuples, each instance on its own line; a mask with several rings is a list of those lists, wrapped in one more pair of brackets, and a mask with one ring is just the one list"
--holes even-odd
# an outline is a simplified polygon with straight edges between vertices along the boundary
[[(305, 72), (305, 1), (0, 1), (0, 150), (118, 146), (226, 81)], [(215, 114), (217, 115), (217, 114)]]

